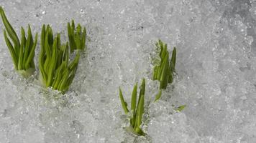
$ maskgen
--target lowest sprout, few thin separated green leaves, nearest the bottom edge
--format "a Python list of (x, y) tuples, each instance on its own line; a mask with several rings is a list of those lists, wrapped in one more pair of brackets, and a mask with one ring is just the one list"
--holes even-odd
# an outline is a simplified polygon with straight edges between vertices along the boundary
[(131, 102), (130, 111), (127, 108), (127, 102), (124, 101), (121, 88), (119, 88), (119, 97), (122, 103), (122, 107), (124, 109), (124, 113), (129, 114), (129, 112), (132, 112), (132, 117), (130, 119), (130, 127), (127, 127), (127, 129), (130, 132), (133, 132), (134, 134), (144, 136), (145, 133), (142, 131), (140, 126), (142, 124), (142, 114), (144, 114), (145, 79), (142, 80), (142, 84), (140, 86), (140, 96), (139, 96), (138, 103), (136, 103), (137, 102), (137, 83), (134, 85), (134, 88), (132, 91), (132, 102)]

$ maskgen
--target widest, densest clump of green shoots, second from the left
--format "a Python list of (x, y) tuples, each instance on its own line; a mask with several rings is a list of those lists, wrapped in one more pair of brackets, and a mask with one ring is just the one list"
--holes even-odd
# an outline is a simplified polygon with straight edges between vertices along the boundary
[(65, 92), (70, 87), (78, 68), (79, 53), (69, 61), (68, 42), (61, 45), (60, 34), (55, 38), (52, 28), (45, 24), (42, 26), (41, 51), (39, 54), (40, 82), (45, 87), (52, 87), (60, 92)]

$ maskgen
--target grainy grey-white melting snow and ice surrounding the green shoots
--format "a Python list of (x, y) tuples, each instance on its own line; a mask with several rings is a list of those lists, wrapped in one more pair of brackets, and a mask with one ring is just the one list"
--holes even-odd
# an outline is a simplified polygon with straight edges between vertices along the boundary
[[(70, 19), (88, 29), (70, 92), (54, 99), (36, 79), (14, 71), (0, 22), (0, 142), (256, 142), (255, 0), (0, 0), (14, 28), (51, 24), (65, 41)], [(162, 39), (178, 49), (178, 77), (150, 104), (145, 132), (122, 129), (118, 87), (129, 99), (145, 77), (149, 100), (151, 55)], [(37, 51), (39, 45), (37, 46)], [(36, 56), (37, 57), (37, 56)], [(174, 87), (174, 88), (173, 88)], [(128, 100), (129, 101), (129, 100)], [(172, 105), (186, 104), (175, 113)]]

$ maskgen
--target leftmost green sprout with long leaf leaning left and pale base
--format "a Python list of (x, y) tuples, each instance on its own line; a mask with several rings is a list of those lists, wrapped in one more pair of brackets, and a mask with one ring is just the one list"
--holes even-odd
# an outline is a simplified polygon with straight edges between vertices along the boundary
[[(31, 76), (35, 71), (35, 47), (37, 46), (37, 34), (35, 35), (35, 41), (33, 40), (33, 36), (31, 33), (31, 28), (28, 24), (27, 37), (25, 36), (24, 28), (22, 27), (22, 39), (19, 42), (19, 38), (12, 28), (12, 25), (9, 23), (6, 15), (4, 14), (4, 10), (0, 6), (0, 14), (1, 19), (4, 23), (4, 39), (6, 41), (6, 45), (9, 49), (9, 52), (12, 56), (12, 61), (14, 63), (14, 68), (22, 74), (24, 77)], [(12, 42), (10, 41), (10, 39)]]

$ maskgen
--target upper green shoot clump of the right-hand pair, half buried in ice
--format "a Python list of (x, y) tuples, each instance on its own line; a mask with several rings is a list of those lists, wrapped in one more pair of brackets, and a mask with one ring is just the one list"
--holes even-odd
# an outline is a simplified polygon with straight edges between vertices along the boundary
[(158, 50), (160, 49), (159, 56), (161, 61), (160, 65), (154, 67), (153, 80), (158, 80), (160, 82), (160, 89), (166, 89), (168, 83), (173, 82), (176, 62), (176, 48), (174, 47), (172, 58), (169, 61), (167, 44), (163, 44), (163, 42), (159, 40), (156, 46)]

